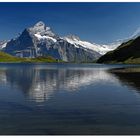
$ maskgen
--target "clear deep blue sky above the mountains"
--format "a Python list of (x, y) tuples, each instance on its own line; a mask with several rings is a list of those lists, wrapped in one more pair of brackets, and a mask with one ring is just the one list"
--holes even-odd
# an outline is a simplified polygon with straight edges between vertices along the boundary
[(140, 3), (0, 3), (0, 40), (40, 20), (60, 36), (109, 43), (140, 27)]

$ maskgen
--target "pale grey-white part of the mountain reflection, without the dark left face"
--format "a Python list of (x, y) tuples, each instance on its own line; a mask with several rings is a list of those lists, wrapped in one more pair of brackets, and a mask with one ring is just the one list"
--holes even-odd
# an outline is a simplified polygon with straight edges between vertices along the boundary
[[(51, 73), (50, 73), (51, 71)], [(38, 74), (37, 74), (38, 73)], [(116, 83), (117, 79), (101, 69), (69, 70), (57, 69), (46, 70), (45, 80), (40, 78), (41, 70), (37, 70), (32, 86), (29, 90), (31, 99), (37, 102), (48, 100), (55, 91), (74, 91), (82, 86), (101, 83)]]

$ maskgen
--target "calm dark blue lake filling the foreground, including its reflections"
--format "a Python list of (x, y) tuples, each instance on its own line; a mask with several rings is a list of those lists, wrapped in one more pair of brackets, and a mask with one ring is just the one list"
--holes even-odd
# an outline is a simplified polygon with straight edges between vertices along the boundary
[(0, 134), (140, 134), (139, 68), (0, 64)]

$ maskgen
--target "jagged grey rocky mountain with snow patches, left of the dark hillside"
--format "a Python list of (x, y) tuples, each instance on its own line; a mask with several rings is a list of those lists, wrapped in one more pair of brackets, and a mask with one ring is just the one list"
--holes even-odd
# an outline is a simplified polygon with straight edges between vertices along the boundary
[(93, 62), (105, 50), (78, 37), (60, 37), (42, 21), (0, 46), (2, 51), (17, 57), (52, 56), (66, 62)]

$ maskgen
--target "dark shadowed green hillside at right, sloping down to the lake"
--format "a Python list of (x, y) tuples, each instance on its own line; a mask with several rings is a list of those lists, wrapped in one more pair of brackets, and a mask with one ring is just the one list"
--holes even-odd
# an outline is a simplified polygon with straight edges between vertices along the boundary
[(101, 56), (97, 63), (140, 63), (140, 37), (122, 43), (114, 51)]

